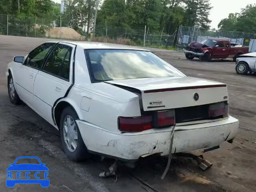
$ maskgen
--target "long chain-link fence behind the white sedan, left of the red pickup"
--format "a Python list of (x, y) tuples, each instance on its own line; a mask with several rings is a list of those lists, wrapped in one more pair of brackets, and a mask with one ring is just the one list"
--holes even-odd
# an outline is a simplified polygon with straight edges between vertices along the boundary
[(68, 21), (62, 21), (61, 16), (56, 16), (55, 20), (50, 20), (47, 18), (0, 14), (0, 34), (2, 35), (78, 41), (90, 40), (159, 48), (173, 46), (176, 35), (176, 30), (166, 34), (163, 30), (150, 30), (150, 26), (145, 26), (145, 28), (122, 28), (97, 25), (93, 37), (92, 33), (86, 33), (86, 27), (84, 26), (76, 31), (68, 26)]

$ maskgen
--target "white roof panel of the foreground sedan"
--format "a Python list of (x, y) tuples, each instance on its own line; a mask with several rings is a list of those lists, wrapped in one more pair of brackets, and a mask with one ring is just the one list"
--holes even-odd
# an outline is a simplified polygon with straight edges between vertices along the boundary
[(49, 41), (49, 42), (64, 42), (76, 44), (84, 49), (129, 49), (129, 50), (143, 50), (149, 51), (141, 47), (112, 44), (112, 43), (101, 43), (101, 42), (88, 42), (88, 41)]

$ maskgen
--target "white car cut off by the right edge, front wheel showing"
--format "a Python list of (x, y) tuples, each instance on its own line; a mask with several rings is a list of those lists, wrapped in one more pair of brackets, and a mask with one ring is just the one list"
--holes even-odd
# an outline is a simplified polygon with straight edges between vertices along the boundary
[(256, 72), (256, 52), (243, 54), (236, 59), (236, 73), (247, 74)]

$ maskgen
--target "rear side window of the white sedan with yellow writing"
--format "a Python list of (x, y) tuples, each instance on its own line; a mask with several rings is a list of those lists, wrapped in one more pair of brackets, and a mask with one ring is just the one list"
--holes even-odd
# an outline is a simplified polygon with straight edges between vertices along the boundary
[(70, 46), (62, 44), (56, 46), (47, 59), (43, 70), (69, 80), (71, 51)]

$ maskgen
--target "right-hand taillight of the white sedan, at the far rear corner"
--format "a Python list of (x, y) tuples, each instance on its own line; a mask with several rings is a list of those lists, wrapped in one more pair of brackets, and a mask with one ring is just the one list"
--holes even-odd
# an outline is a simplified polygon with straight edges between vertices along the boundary
[(214, 103), (209, 105), (209, 116), (210, 117), (218, 117), (228, 116), (228, 103), (226, 102), (220, 102), (220, 103)]

